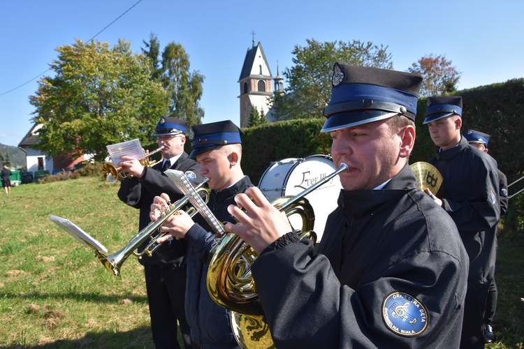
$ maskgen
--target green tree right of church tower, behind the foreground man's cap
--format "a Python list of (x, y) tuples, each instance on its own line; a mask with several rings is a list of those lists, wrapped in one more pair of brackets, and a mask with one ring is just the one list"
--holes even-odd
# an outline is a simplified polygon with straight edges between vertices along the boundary
[(284, 69), (284, 94), (275, 94), (269, 105), (275, 119), (322, 117), (329, 103), (333, 64), (353, 64), (392, 69), (387, 47), (359, 40), (320, 43), (307, 39), (307, 46), (296, 45), (292, 54), (294, 66)]

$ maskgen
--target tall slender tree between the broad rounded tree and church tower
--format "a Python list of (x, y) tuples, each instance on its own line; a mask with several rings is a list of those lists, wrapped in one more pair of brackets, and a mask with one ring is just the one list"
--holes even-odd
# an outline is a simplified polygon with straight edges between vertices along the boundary
[(168, 116), (184, 119), (189, 125), (202, 123), (204, 110), (200, 106), (204, 76), (198, 71), (190, 72), (189, 54), (180, 43), (171, 42), (164, 47), (159, 59), (160, 43), (151, 34), (142, 52), (152, 60), (153, 77), (161, 81), (170, 96)]

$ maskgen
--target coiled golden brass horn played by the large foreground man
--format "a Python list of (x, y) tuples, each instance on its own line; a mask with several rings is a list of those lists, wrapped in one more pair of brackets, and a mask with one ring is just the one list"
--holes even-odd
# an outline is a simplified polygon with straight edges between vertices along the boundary
[[(302, 218), (301, 238), (316, 241), (316, 235), (312, 232), (314, 212), (305, 195), (347, 169), (347, 165), (341, 163), (335, 172), (302, 193), (292, 198), (273, 200), (272, 204), (286, 212), (286, 216), (298, 214)], [(274, 343), (251, 274), (252, 262), (257, 257), (257, 253), (238, 235), (228, 233), (219, 238), (208, 269), (208, 292), (214, 302), (231, 310), (233, 334), (242, 348), (273, 348)]]

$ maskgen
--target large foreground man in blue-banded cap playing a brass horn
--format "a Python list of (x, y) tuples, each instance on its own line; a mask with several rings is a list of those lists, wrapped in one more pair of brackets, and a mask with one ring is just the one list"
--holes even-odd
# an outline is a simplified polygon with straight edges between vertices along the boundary
[(421, 80), (335, 64), (321, 132), (349, 170), (317, 255), (258, 188), (229, 207), (277, 348), (458, 347), (467, 255), (407, 161)]

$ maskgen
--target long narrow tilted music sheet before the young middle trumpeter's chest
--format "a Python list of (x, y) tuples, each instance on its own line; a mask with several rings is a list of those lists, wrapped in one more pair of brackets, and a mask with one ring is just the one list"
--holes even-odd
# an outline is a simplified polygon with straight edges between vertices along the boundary
[(189, 180), (187, 179), (186, 175), (182, 171), (178, 170), (166, 170), (163, 172), (166, 174), (166, 176), (169, 177), (175, 183), (175, 186), (184, 193), (186, 198), (191, 202), (191, 205), (205, 218), (206, 221), (208, 221), (209, 225), (211, 225), (211, 228), (219, 236), (222, 236), (226, 234), (226, 230), (224, 230), (224, 225), (217, 219), (214, 214), (212, 214), (211, 210), (209, 209), (208, 205), (205, 205), (204, 200), (198, 195), (196, 192), (194, 186), (191, 185)]

